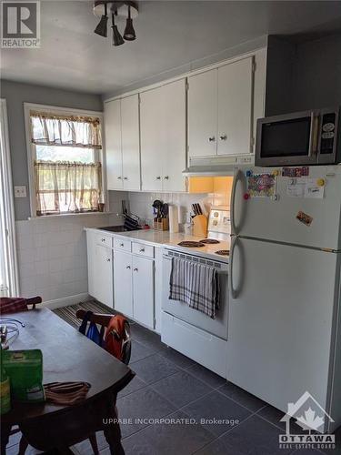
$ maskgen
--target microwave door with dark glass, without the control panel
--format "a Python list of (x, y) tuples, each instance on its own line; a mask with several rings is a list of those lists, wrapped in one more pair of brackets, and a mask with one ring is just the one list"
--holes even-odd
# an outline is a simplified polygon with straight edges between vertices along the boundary
[(316, 111), (258, 119), (256, 166), (316, 164), (318, 120)]

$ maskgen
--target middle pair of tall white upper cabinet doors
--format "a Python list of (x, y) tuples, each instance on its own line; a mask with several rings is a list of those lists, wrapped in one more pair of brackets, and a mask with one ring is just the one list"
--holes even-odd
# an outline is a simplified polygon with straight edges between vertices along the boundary
[(141, 176), (145, 191), (184, 191), (185, 79), (140, 94)]

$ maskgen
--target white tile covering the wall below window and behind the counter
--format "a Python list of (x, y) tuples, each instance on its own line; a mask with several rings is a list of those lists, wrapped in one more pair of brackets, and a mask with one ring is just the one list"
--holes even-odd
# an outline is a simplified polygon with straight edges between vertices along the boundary
[(87, 293), (86, 238), (84, 227), (123, 224), (122, 200), (131, 213), (150, 226), (152, 203), (161, 199), (180, 208), (180, 230), (184, 230), (191, 204), (198, 202), (208, 213), (212, 205), (228, 205), (223, 193), (143, 193), (109, 191), (109, 214), (42, 217), (16, 221), (20, 295), (41, 296), (43, 301), (72, 298)]

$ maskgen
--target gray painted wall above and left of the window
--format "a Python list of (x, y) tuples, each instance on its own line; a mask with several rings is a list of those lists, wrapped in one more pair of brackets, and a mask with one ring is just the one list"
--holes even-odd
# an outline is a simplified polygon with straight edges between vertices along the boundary
[(25, 185), (27, 197), (15, 198), (15, 219), (30, 217), (27, 148), (25, 139), (24, 103), (103, 110), (101, 96), (76, 93), (46, 86), (34, 86), (2, 80), (0, 96), (5, 98), (8, 113), (9, 142), (14, 185)]

